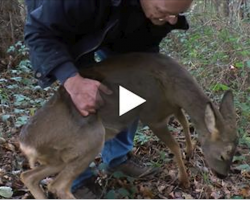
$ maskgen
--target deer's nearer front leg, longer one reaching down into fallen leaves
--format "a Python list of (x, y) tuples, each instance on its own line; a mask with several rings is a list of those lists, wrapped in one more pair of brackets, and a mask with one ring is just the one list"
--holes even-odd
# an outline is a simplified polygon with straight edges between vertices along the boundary
[(182, 160), (179, 144), (176, 142), (172, 134), (169, 132), (166, 123), (159, 123), (157, 125), (151, 125), (151, 130), (154, 132), (160, 140), (162, 140), (173, 152), (178, 168), (179, 168), (179, 181), (180, 184), (188, 188), (190, 186), (186, 167)]

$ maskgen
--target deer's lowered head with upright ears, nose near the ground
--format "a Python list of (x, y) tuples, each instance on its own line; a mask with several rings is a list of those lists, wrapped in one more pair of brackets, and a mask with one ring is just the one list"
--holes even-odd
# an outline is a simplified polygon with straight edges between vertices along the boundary
[(219, 110), (213, 104), (207, 104), (204, 120), (208, 134), (202, 134), (200, 141), (205, 160), (219, 178), (225, 178), (238, 145), (236, 114), (231, 91), (224, 94)]

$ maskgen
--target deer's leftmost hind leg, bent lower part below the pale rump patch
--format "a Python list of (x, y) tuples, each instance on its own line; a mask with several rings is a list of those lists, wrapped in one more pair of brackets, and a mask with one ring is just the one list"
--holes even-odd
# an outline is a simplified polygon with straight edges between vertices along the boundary
[(40, 187), (40, 181), (50, 175), (58, 173), (62, 168), (63, 166), (39, 165), (23, 172), (21, 174), (21, 180), (36, 199), (46, 199), (47, 197)]

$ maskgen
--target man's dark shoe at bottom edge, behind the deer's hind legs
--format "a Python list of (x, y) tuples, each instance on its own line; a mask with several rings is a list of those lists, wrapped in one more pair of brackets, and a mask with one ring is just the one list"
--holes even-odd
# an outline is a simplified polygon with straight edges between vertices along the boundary
[(96, 183), (96, 177), (84, 181), (84, 185), (73, 192), (77, 199), (100, 199), (102, 197), (101, 186)]

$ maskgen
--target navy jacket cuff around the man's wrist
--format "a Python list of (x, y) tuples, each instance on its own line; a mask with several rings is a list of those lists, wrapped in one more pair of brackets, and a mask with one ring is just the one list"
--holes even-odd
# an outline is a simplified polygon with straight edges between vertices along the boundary
[(77, 73), (78, 70), (75, 65), (72, 62), (66, 62), (52, 70), (50, 74), (54, 75), (60, 84), (63, 85), (68, 78), (75, 76)]

